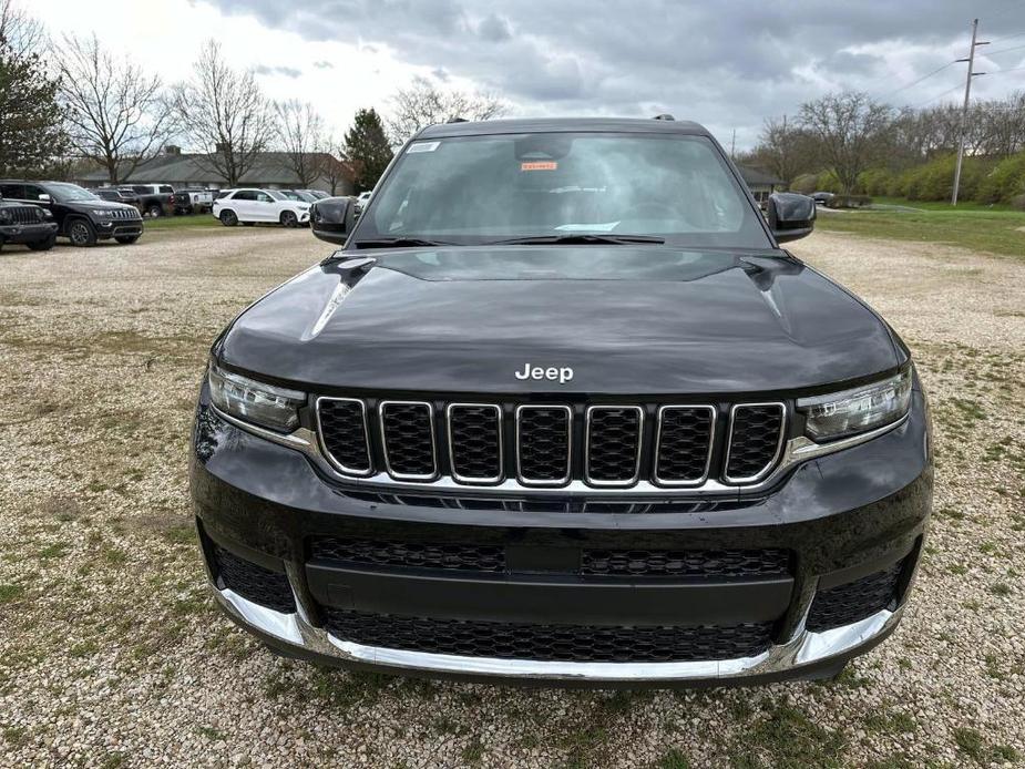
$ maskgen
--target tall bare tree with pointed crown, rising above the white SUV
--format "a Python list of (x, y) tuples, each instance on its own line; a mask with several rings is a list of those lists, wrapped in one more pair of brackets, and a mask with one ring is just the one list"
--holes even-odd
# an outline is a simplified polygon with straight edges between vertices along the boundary
[(228, 186), (238, 185), (277, 134), (253, 72), (230, 69), (213, 40), (204, 43), (193, 79), (175, 88), (174, 111), (189, 144), (206, 153), (197, 161)]

